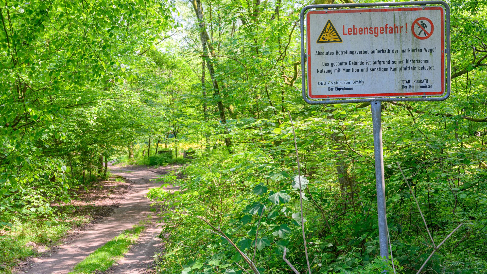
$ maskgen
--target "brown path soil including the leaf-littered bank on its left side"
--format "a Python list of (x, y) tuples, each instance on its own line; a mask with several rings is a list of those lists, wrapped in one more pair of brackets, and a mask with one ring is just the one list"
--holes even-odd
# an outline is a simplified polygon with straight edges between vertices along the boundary
[(176, 170), (178, 166), (157, 169), (144, 166), (110, 166), (112, 174), (126, 178), (128, 183), (104, 183), (89, 192), (80, 193), (76, 201), (79, 214), (84, 211), (99, 218), (94, 224), (79, 230), (68, 237), (64, 244), (28, 261), (18, 273), (28, 274), (66, 274), (86, 256), (97, 248), (140, 222), (150, 221), (147, 229), (140, 235), (137, 244), (128, 254), (106, 273), (146, 274), (150, 271), (153, 255), (163, 248), (160, 234), (161, 220), (151, 210), (150, 200), (145, 197), (149, 188), (160, 187), (156, 179), (161, 174)]

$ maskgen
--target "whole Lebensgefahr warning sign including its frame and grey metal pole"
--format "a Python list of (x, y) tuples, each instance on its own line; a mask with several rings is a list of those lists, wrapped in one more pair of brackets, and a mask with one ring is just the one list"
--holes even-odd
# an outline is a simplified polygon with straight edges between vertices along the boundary
[(371, 104), (379, 246), (388, 257), (381, 102), (450, 96), (450, 7), (439, 0), (308, 5), (300, 20), (304, 100)]

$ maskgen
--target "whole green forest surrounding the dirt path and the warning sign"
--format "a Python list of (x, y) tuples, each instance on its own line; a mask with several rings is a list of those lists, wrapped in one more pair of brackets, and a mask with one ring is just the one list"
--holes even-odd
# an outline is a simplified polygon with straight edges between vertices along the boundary
[(487, 273), (487, 2), (447, 0), (450, 98), (382, 103), (393, 260), (370, 103), (301, 96), (301, 9), (354, 2), (0, 3), (0, 273), (90, 222), (112, 163), (178, 166), (151, 273)]

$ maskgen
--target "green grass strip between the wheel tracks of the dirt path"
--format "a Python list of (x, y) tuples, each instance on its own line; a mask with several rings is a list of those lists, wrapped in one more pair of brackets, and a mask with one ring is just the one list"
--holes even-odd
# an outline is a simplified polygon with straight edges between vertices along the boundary
[(129, 251), (130, 246), (137, 241), (144, 229), (145, 226), (136, 225), (124, 231), (75, 265), (69, 274), (89, 274), (95, 271), (98, 273), (109, 269)]

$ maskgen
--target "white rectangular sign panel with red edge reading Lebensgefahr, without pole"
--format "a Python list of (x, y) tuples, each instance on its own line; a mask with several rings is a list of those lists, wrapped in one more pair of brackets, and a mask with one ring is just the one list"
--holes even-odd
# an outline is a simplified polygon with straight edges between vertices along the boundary
[(442, 6), (308, 11), (308, 97), (444, 94), (444, 14)]

